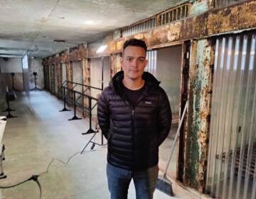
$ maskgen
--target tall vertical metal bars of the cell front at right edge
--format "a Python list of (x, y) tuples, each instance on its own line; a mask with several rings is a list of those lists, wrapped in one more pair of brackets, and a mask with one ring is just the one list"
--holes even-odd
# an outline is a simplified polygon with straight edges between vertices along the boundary
[(256, 34), (218, 38), (206, 188), (215, 198), (256, 198)]

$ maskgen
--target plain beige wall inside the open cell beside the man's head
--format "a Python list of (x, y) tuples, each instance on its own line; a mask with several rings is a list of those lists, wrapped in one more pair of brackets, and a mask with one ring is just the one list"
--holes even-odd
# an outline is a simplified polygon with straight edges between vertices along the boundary
[(157, 50), (156, 78), (166, 91), (173, 113), (179, 112), (181, 86), (181, 45)]

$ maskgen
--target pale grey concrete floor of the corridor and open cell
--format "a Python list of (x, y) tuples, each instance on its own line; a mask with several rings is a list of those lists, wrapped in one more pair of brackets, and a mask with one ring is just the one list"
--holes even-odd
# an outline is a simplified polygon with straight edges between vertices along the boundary
[[(11, 108), (16, 109), (16, 112), (11, 114), (18, 117), (8, 119), (4, 133), (4, 173), (7, 178), (0, 180), (0, 185), (13, 185), (32, 175), (43, 173), (47, 171), (50, 161), (53, 161), (48, 172), (38, 178), (42, 198), (110, 198), (105, 173), (106, 146), (95, 146), (93, 151), (88, 147), (84, 154), (79, 153), (92, 136), (81, 135), (89, 127), (88, 119), (68, 121), (73, 117), (73, 112), (58, 112), (63, 109), (63, 102), (48, 92), (30, 92), (29, 98), (25, 92), (17, 95), (16, 101), (11, 102)], [(6, 109), (3, 93), (0, 108)], [(100, 141), (100, 134), (96, 139)], [(161, 146), (161, 170), (168, 159), (172, 141), (170, 136)], [(75, 153), (77, 154), (65, 164)], [(170, 167), (171, 176), (174, 176), (175, 156)], [(178, 185), (174, 185), (174, 192), (176, 197), (173, 198), (195, 198), (195, 194)], [(35, 199), (39, 196), (38, 185), (34, 181), (28, 181), (15, 188), (1, 189), (0, 198)], [(135, 198), (133, 183), (129, 189), (129, 199), (132, 198)], [(154, 198), (171, 197), (156, 190)]]

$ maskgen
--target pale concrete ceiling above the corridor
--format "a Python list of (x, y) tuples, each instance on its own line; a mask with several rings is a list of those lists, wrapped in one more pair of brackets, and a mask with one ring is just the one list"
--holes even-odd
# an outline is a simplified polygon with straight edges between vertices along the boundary
[[(46, 57), (181, 4), (178, 0), (0, 0), (0, 55)], [(56, 43), (55, 40), (65, 41)]]

